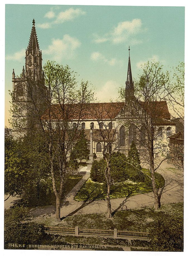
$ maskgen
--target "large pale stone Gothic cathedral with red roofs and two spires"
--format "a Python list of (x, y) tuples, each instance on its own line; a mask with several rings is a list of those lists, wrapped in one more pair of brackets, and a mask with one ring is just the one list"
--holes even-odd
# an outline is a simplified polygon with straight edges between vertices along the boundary
[[(28, 126), (35, 126), (37, 124), (35, 118), (32, 117), (33, 114), (28, 112), (30, 110), (27, 108), (27, 106), (30, 105), (30, 109), (32, 109), (32, 104), (34, 104), (31, 101), (31, 95), (34, 95), (33, 97), (35, 97), (35, 102), (42, 119), (44, 121), (48, 119), (47, 112), (49, 110), (46, 109), (48, 89), (45, 86), (44, 72), (42, 70), (42, 52), (39, 48), (34, 20), (28, 47), (25, 52), (25, 67), (23, 66), (20, 77), (15, 77), (13, 69), (12, 82), (14, 95), (13, 107), (16, 108), (18, 102), (23, 102), (23, 106), (26, 106), (23, 108), (25, 110), (23, 110), (20, 118), (14, 120), (13, 115), (13, 120), (17, 124), (20, 124), (20, 128), (18, 128), (19, 131), (13, 130), (13, 136), (16, 137), (18, 132), (22, 131), (23, 134), (25, 132), (24, 128), (22, 130), (22, 116), (27, 116)], [(98, 136), (98, 130), (105, 129), (114, 134), (114, 140), (112, 141), (113, 150), (127, 156), (132, 142), (135, 142), (140, 156), (143, 156), (146, 149), (146, 134), (142, 123), (137, 123), (135, 115), (135, 112), (138, 111), (138, 115), (143, 118), (143, 110), (141, 108), (141, 103), (141, 106), (139, 103), (136, 103), (134, 93), (129, 54), (127, 79), (125, 82), (125, 102), (86, 104), (86, 109), (88, 109), (88, 111), (86, 112), (86, 115), (83, 116), (83, 119), (80, 120), (80, 125), (81, 129), (83, 129), (86, 134), (89, 147), (91, 147), (91, 153), (95, 153), (96, 156), (102, 157), (104, 145), (102, 138)], [(168, 137), (172, 135), (172, 133), (175, 133), (175, 123), (170, 121), (170, 113), (166, 101), (151, 102), (151, 107), (159, 112), (155, 122), (155, 133), (157, 134), (155, 144), (158, 145), (157, 150), (155, 150), (155, 156), (159, 156), (158, 148), (160, 142), (165, 144), (165, 153), (169, 150)], [(99, 116), (97, 116), (97, 113), (99, 113)], [(75, 111), (70, 123), (75, 127), (77, 122), (78, 114), (77, 111)], [(106, 143), (108, 143), (108, 140)]]

